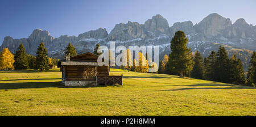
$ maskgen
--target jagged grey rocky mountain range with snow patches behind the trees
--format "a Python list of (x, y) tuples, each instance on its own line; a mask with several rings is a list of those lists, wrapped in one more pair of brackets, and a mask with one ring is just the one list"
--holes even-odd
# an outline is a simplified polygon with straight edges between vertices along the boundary
[(20, 43), (23, 43), (28, 54), (35, 54), (38, 45), (43, 42), (48, 49), (48, 56), (63, 58), (65, 46), (71, 42), (77, 54), (93, 52), (97, 43), (109, 45), (159, 45), (159, 55), (162, 59), (165, 54), (170, 54), (170, 41), (176, 31), (183, 31), (188, 37), (188, 47), (192, 51), (199, 51), (203, 56), (208, 56), (211, 50), (218, 50), (222, 45), (228, 50), (229, 56), (236, 54), (241, 58), (245, 67), (249, 64), (250, 55), (256, 50), (256, 26), (246, 23), (245, 19), (237, 19), (232, 24), (229, 18), (224, 18), (216, 13), (205, 17), (198, 24), (191, 21), (177, 22), (169, 26), (167, 19), (161, 15), (152, 16), (144, 24), (137, 22), (116, 24), (110, 33), (105, 28), (81, 33), (79, 36), (63, 35), (52, 37), (48, 31), (35, 29), (28, 38), (13, 39), (6, 36), (0, 50), (9, 48), (15, 53)]

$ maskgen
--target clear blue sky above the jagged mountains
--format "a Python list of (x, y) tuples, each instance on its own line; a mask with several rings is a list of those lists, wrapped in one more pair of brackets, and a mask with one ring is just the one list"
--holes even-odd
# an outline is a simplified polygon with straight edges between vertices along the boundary
[(100, 27), (110, 32), (115, 24), (128, 21), (142, 24), (156, 14), (170, 26), (187, 20), (195, 24), (214, 12), (232, 23), (244, 18), (256, 24), (256, 0), (1, 0), (0, 45), (5, 36), (27, 38), (36, 28), (53, 37), (78, 36)]

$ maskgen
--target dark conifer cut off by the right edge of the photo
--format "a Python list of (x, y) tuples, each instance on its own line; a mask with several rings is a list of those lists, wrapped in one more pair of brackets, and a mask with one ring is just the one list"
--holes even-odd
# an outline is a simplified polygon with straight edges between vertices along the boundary
[(247, 86), (256, 86), (256, 52), (253, 52), (251, 56), (250, 65), (247, 73), (246, 78), (246, 85)]

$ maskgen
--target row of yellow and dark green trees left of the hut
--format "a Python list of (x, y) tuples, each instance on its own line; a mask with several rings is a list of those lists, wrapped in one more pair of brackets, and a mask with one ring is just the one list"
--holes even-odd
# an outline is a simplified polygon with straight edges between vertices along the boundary
[(57, 65), (59, 60), (56, 58), (47, 57), (47, 49), (44, 43), (40, 43), (36, 56), (27, 54), (23, 44), (20, 44), (15, 54), (12, 54), (8, 48), (3, 49), (0, 53), (0, 70), (48, 70)]

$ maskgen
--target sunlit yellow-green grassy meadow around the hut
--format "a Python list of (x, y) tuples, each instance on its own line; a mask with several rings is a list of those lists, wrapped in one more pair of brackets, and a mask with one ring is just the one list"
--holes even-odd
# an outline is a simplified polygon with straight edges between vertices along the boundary
[(0, 71), (0, 115), (256, 115), (253, 87), (123, 72), (122, 86), (64, 87), (59, 69)]

